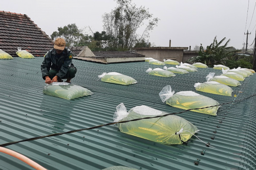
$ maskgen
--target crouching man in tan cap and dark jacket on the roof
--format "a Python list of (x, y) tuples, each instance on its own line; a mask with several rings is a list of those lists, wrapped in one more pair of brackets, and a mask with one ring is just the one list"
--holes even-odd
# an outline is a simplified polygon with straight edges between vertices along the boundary
[(76, 67), (72, 63), (72, 52), (66, 47), (66, 41), (63, 38), (57, 38), (52, 50), (45, 55), (45, 60), (41, 64), (42, 78), (47, 84), (52, 82), (71, 83), (75, 77)]

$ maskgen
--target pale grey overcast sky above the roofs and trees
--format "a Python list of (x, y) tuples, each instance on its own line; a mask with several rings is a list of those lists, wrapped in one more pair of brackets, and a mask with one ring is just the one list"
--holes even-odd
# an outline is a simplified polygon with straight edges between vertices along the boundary
[[(254, 47), (256, 0), (133, 0), (159, 18), (158, 26), (150, 32), (155, 46), (189, 47), (210, 45), (215, 36), (220, 41), (230, 39), (228, 46), (241, 49), (246, 43)], [(114, 0), (8, 0), (0, 10), (27, 14), (47, 35), (58, 27), (76, 23), (79, 29), (103, 31), (102, 15), (116, 7)], [(248, 13), (247, 13), (248, 10)], [(253, 13), (254, 12), (254, 13)], [(90, 34), (89, 30), (87, 32)], [(224, 41), (226, 42), (226, 41)], [(253, 43), (253, 44), (252, 44)], [(224, 43), (223, 43), (224, 44)], [(252, 45), (251, 45), (252, 44)]]

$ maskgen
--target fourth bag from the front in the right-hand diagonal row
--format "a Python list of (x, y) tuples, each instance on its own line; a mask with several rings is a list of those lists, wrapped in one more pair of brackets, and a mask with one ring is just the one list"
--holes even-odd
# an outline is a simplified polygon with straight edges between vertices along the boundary
[(226, 76), (215, 76), (215, 72), (209, 72), (209, 75), (206, 76), (206, 81), (215, 81), (221, 84), (225, 84), (227, 86), (237, 87), (240, 86), (241, 83), (238, 80), (231, 79)]

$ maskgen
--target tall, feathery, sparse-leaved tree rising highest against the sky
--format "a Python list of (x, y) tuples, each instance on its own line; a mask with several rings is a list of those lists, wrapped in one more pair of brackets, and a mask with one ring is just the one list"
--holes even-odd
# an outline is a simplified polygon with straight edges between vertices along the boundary
[[(145, 7), (137, 8), (130, 1), (117, 0), (117, 7), (102, 16), (104, 31), (112, 37), (109, 47), (118, 51), (130, 50), (136, 43), (147, 38), (159, 20), (151, 20), (152, 16)], [(141, 35), (137, 33), (139, 28), (144, 30)]]

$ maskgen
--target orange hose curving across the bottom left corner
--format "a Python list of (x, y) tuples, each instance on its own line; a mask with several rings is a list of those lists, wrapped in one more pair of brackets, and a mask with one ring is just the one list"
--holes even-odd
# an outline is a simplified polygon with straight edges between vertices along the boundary
[(8, 155), (11, 155), (25, 163), (27, 163), (28, 165), (30, 165), (31, 167), (35, 168), (35, 169), (38, 169), (38, 170), (47, 170), (46, 168), (42, 167), (41, 165), (39, 165), (38, 163), (32, 161), (31, 159), (29, 159), (28, 157), (22, 155), (22, 154), (19, 154), (15, 151), (12, 151), (12, 150), (9, 150), (7, 148), (3, 148), (3, 147), (0, 147), (0, 152), (3, 152), (5, 154), (8, 154)]

